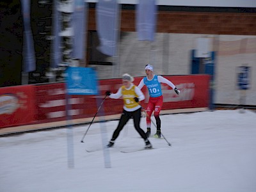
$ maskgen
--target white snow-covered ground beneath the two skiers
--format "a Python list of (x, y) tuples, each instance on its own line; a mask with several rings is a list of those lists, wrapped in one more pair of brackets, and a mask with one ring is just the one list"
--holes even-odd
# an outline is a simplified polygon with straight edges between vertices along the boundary
[(0, 191), (255, 192), (256, 114), (245, 112), (162, 115), (172, 147), (150, 138), (154, 149), (131, 153), (120, 151), (144, 146), (132, 120), (108, 150), (118, 121), (92, 124), (84, 143), (88, 125), (0, 138)]

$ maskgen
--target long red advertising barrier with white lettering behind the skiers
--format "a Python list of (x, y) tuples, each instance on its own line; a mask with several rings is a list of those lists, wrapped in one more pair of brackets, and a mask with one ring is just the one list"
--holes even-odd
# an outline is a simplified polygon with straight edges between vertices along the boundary
[[(180, 90), (177, 95), (172, 88), (162, 84), (163, 110), (209, 107), (208, 75), (164, 76), (172, 81)], [(138, 85), (142, 77), (135, 77)], [(122, 79), (99, 80), (99, 95), (70, 95), (69, 114), (72, 119), (93, 117), (97, 112), (97, 97), (105, 97), (110, 90), (116, 93), (122, 85)], [(148, 91), (144, 86), (142, 92), (147, 106)], [(43, 124), (66, 120), (65, 83), (33, 84), (0, 88), (0, 128), (17, 125)], [(122, 112), (123, 100), (106, 99), (102, 108), (105, 115), (116, 115)]]

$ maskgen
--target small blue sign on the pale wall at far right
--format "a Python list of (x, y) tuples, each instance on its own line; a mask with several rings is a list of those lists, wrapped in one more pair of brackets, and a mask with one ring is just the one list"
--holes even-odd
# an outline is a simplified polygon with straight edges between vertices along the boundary
[(248, 90), (250, 88), (250, 67), (241, 66), (238, 68), (237, 86), (239, 90)]

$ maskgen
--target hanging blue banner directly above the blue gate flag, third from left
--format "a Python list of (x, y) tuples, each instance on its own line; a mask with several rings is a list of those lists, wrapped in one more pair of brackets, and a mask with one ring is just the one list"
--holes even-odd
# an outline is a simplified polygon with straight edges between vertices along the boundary
[(85, 53), (85, 31), (87, 23), (87, 3), (84, 0), (74, 0), (74, 13), (72, 17), (74, 29), (74, 44), (72, 56), (84, 60)]

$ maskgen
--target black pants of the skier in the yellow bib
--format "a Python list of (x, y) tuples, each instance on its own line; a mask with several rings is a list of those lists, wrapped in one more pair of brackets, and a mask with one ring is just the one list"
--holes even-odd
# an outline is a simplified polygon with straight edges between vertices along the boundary
[(115, 141), (118, 137), (120, 131), (124, 128), (124, 125), (127, 124), (128, 120), (133, 117), (133, 123), (136, 131), (140, 134), (143, 140), (147, 139), (145, 132), (140, 128), (140, 118), (141, 118), (141, 108), (136, 111), (123, 111), (122, 116), (119, 120), (118, 126), (113, 133), (111, 141)]

